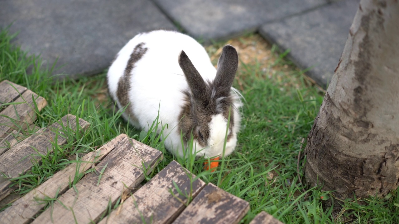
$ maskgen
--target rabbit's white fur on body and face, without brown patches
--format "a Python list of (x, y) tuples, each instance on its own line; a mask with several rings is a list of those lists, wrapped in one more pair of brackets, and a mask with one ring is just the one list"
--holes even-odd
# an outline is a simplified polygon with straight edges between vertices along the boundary
[[(184, 50), (205, 82), (215, 79), (216, 69), (213, 67), (205, 49), (188, 35), (164, 30), (138, 34), (119, 51), (117, 59), (111, 65), (107, 74), (109, 92), (119, 107), (121, 105), (116, 96), (118, 81), (124, 74), (130, 54), (139, 43), (144, 43), (143, 48), (148, 49), (132, 69), (131, 88), (128, 96), (132, 104), (132, 112), (138, 118), (138, 122), (130, 120), (130, 123), (136, 128), (148, 131), (149, 126), (158, 115), (159, 107), (162, 125), (168, 124), (168, 128), (165, 128), (162, 136), (162, 138), (168, 136), (164, 139), (165, 147), (172, 153), (182, 156), (184, 149), (182, 148), (180, 130), (178, 130), (178, 116), (184, 104), (184, 94), (181, 90), (187, 90), (188, 84), (178, 64), (178, 55)], [(239, 108), (240, 103), (237, 101), (235, 106)], [(236, 137), (240, 116), (235, 110), (232, 111), (235, 113), (234, 136), (231, 141), (227, 142), (225, 155), (229, 155), (237, 143)], [(122, 116), (128, 119), (126, 114)], [(215, 145), (205, 148), (197, 155), (205, 154), (205, 157), (212, 157), (223, 153), (223, 144), (220, 143), (222, 140), (221, 133), (224, 133), (224, 140), (227, 121), (221, 120), (221, 115), (216, 115), (212, 122), (211, 130), (215, 133), (215, 136), (211, 135), (211, 138)], [(158, 127), (158, 134), (160, 130), (161, 126)], [(198, 144), (196, 146), (198, 151)]]

